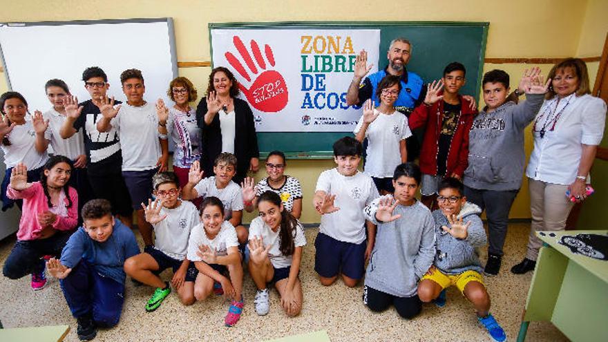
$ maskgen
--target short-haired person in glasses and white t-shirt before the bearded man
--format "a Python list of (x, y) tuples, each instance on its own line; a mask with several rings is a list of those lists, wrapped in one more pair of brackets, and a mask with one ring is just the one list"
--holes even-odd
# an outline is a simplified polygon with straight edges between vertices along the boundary
[(363, 104), (363, 115), (353, 132), (359, 142), (368, 139), (363, 171), (372, 176), (381, 195), (395, 191), (392, 173), (397, 165), (408, 160), (406, 139), (412, 132), (406, 115), (393, 107), (399, 91), (399, 76), (385, 76), (376, 90), (380, 105), (374, 108), (371, 100), (366, 101)]

